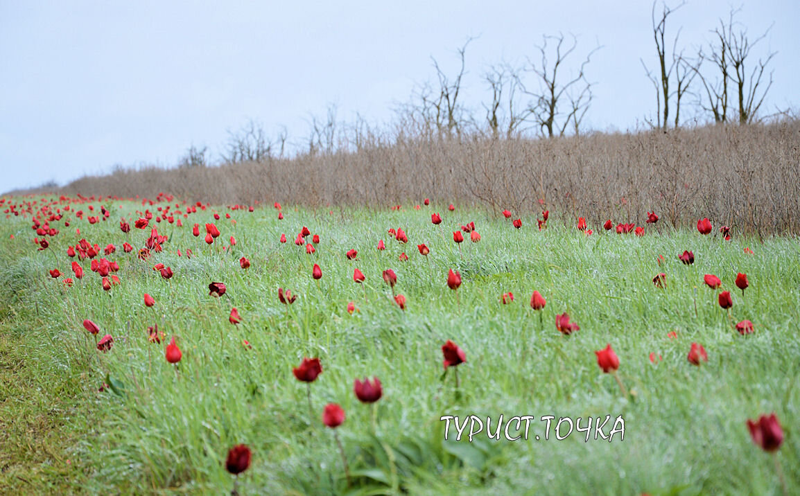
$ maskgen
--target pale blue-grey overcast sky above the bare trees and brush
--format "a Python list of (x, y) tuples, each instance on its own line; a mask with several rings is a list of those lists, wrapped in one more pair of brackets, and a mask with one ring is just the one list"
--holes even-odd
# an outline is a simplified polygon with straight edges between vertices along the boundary
[[(676, 5), (672, 2), (671, 5)], [(766, 106), (800, 104), (798, 0), (689, 0), (667, 38), (696, 52), (718, 18), (742, 6), (752, 58), (777, 51)], [(648, 0), (573, 2), (35, 2), (0, 0), (0, 192), (64, 184), (114, 164), (172, 166), (192, 144), (214, 158), (248, 119), (290, 140), (330, 103), (338, 118), (392, 118), (414, 85), (433, 80), (430, 57), (458, 69), (465, 103), (480, 110), (490, 64), (522, 63), (542, 34), (575, 34), (566, 69), (594, 46), (586, 125), (634, 130), (654, 113), (640, 58), (656, 66)]]

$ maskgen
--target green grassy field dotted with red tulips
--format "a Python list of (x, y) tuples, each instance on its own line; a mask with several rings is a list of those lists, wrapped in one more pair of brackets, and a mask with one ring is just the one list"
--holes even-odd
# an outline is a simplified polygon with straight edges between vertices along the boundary
[[(272, 206), (209, 206), (175, 214), (173, 224), (153, 218), (142, 230), (134, 227), (138, 211), (158, 215), (159, 206), (171, 205), (183, 213), (187, 206), (53, 198), (48, 215), (60, 208), (62, 218), (50, 227), (60, 232), (38, 250), (31, 214), (49, 201), (12, 198), (2, 207), (34, 199), (30, 213), (0, 218), (2, 492), (224, 494), (234, 487), (228, 450), (246, 443), (253, 458), (238, 478), (240, 494), (781, 494), (775, 459), (786, 490), (800, 493), (796, 238), (761, 242), (732, 231), (726, 241), (716, 223), (710, 235), (662, 223), (644, 226), (643, 236), (600, 225), (587, 235), (577, 219), (564, 225), (550, 218), (540, 231), (529, 216), (515, 229), (516, 216), (441, 204), (284, 206), (282, 220)], [(108, 220), (86, 222), (102, 218), (101, 205)], [(76, 210), (86, 212), (83, 219)], [(442, 216), (438, 226), (434, 212)], [(129, 234), (120, 218), (130, 222)], [(206, 222), (221, 233), (211, 245)], [(453, 232), (468, 222), (481, 239), (464, 234), (459, 246)], [(140, 260), (154, 226), (168, 240)], [(294, 244), (303, 226), (314, 254)], [(408, 242), (390, 228), (402, 228)], [(111, 273), (118, 285), (104, 290), (88, 259), (75, 278), (70, 263), (78, 257), (69, 258), (67, 248), (82, 238), (100, 246), (95, 259), (118, 262)], [(123, 252), (124, 242), (134, 250)], [(421, 243), (430, 248), (426, 257)], [(102, 254), (108, 244), (116, 252)], [(354, 260), (346, 256), (351, 249), (358, 250)], [(694, 252), (692, 265), (678, 260), (684, 250)], [(250, 267), (242, 269), (242, 257)], [(162, 278), (157, 263), (173, 277)], [(52, 278), (54, 269), (62, 275)], [(354, 282), (355, 269), (363, 284)], [(405, 310), (382, 278), (386, 269), (397, 275), (394, 293), (405, 296)], [(447, 286), (450, 269), (461, 274), (457, 290)], [(738, 272), (750, 282), (743, 294), (734, 286)], [(659, 273), (665, 287), (654, 285)], [(704, 274), (730, 290), (730, 312)], [(209, 295), (211, 282), (225, 283), (222, 297)], [(278, 288), (297, 300), (282, 304)], [(543, 310), (530, 306), (534, 290), (546, 298)], [(509, 292), (514, 301), (502, 304)], [(229, 321), (234, 307), (238, 325)], [(564, 312), (580, 330), (556, 329)], [(100, 327), (97, 336), (84, 319)], [(753, 334), (734, 329), (744, 319)], [(156, 324), (165, 333), (160, 344), (148, 340)], [(114, 338), (106, 352), (96, 347), (104, 334)], [(165, 359), (172, 337), (182, 350), (178, 366)], [(442, 366), (447, 340), (464, 350), (465, 363)], [(693, 342), (708, 355), (700, 366), (687, 360)], [(624, 392), (598, 367), (594, 352), (607, 344), (618, 355)], [(322, 364), (310, 387), (292, 373), (304, 357)], [(373, 376), (382, 398), (362, 403), (354, 379)], [(335, 432), (349, 481), (334, 430), (322, 424), (330, 402), (346, 414)], [(772, 412), (785, 434), (775, 457), (754, 444), (746, 426)], [(503, 426), (514, 416), (534, 417), (528, 438), (510, 441), (501, 432), (497, 440), (485, 426), (469, 442), (470, 428), (477, 430), (470, 425), (456, 441), (450, 425), (445, 441), (442, 416), (483, 423), (489, 416), (494, 434), (501, 414)], [(541, 419), (550, 415), (546, 431)], [(624, 438), (595, 438), (593, 425), (557, 439), (568, 430), (564, 422), (556, 432), (559, 418), (581, 418), (584, 428), (587, 418), (606, 416), (602, 432), (621, 427), (622, 418)], [(525, 423), (516, 426), (511, 437), (524, 434)]]

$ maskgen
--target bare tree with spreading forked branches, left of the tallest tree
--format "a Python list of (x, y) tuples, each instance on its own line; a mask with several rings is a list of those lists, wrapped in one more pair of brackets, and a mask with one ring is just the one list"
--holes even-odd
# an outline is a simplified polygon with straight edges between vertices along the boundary
[[(539, 83), (538, 90), (528, 90), (522, 86), (522, 91), (534, 98), (529, 103), (527, 110), (539, 131), (549, 138), (556, 134), (560, 136), (565, 134), (570, 123), (577, 133), (592, 100), (592, 83), (586, 79), (586, 66), (589, 64), (592, 54), (601, 47), (595, 47), (586, 55), (586, 59), (578, 69), (578, 74), (566, 82), (560, 82), (562, 65), (578, 46), (578, 40), (573, 35), (569, 46), (564, 44), (563, 34), (545, 35), (542, 40), (542, 45), (537, 46), (541, 55), (540, 64), (531, 62), (529, 58), (526, 67), (527, 71), (536, 74)], [(552, 66), (548, 61), (548, 42), (555, 44), (555, 58)], [(565, 98), (569, 100), (569, 108), (562, 111), (562, 106), (559, 104)]]

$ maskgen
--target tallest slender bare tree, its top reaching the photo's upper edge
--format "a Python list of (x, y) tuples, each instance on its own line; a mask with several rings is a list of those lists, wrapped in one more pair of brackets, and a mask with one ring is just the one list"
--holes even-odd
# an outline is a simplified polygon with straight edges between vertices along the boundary
[[(650, 20), (653, 26), (653, 39), (655, 40), (655, 48), (656, 54), (658, 55), (658, 74), (653, 74), (653, 71), (648, 69), (647, 65), (643, 60), (640, 59), (642, 62), (642, 66), (645, 68), (647, 73), (647, 78), (650, 79), (650, 82), (653, 83), (655, 88), (655, 96), (656, 96), (656, 127), (666, 130), (667, 126), (669, 126), (670, 122), (670, 79), (672, 78), (673, 71), (676, 70), (676, 67), (681, 60), (681, 57), (675, 56), (676, 46), (678, 45), (678, 37), (681, 34), (681, 30), (678, 30), (678, 33), (675, 34), (675, 38), (672, 44), (672, 57), (670, 65), (667, 66), (667, 61), (670, 60), (670, 57), (666, 54), (666, 20), (670, 17), (675, 10), (680, 9), (682, 6), (686, 5), (686, 2), (681, 2), (676, 7), (667, 6), (666, 3), (662, 3), (662, 12), (661, 18), (656, 16), (656, 5), (658, 1), (653, 2), (653, 9), (650, 13)], [(693, 76), (694, 77), (694, 76)], [(689, 80), (690, 81), (690, 80)], [(679, 85), (680, 86), (680, 85)], [(688, 84), (687, 84), (688, 86)], [(685, 89), (683, 92), (680, 91), (681, 88), (678, 88), (678, 95), (682, 96), (685, 93)], [(679, 106), (680, 100), (676, 102), (676, 107)], [(662, 110), (663, 105), (663, 110)], [(676, 108), (676, 114), (680, 114), (680, 109)], [(675, 126), (678, 126), (678, 121), (675, 121)]]

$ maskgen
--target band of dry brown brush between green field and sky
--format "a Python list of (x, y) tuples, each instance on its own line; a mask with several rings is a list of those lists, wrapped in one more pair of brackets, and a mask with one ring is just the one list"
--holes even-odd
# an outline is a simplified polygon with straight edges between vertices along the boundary
[[(118, 171), (86, 177), (65, 193), (212, 203), (279, 201), (308, 206), (403, 201), (480, 203), (516, 214), (538, 199), (563, 222), (672, 226), (708, 217), (759, 235), (800, 233), (800, 121), (709, 126), (555, 139), (372, 138), (358, 150), (301, 154), (219, 167)], [(624, 198), (624, 199), (623, 199)]]

